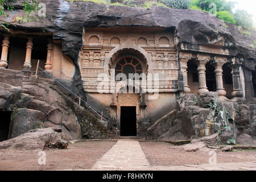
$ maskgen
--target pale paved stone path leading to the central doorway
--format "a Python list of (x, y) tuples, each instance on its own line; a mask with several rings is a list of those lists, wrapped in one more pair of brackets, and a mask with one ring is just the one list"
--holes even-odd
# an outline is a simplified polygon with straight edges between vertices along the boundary
[(256, 171), (256, 162), (199, 164), (184, 166), (150, 166), (138, 141), (118, 142), (90, 169), (93, 171)]

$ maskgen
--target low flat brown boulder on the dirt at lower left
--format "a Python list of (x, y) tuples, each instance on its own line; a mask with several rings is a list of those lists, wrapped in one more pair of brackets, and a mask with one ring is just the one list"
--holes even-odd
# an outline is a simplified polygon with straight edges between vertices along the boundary
[(59, 133), (52, 128), (30, 130), (3, 142), (0, 142), (0, 149), (14, 150), (44, 150), (47, 147), (67, 148), (67, 142), (61, 139)]

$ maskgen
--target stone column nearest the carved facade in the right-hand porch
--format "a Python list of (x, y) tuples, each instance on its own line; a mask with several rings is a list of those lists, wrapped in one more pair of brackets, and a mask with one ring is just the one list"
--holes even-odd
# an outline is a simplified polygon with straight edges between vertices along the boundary
[(191, 59), (191, 53), (180, 53), (180, 65), (183, 75), (184, 91), (183, 93), (191, 93), (191, 89), (188, 86), (188, 61)]

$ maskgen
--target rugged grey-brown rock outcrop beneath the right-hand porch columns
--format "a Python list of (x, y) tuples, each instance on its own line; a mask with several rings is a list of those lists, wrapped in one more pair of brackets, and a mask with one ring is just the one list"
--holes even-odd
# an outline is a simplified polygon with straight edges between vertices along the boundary
[(245, 106), (240, 107), (232, 101), (222, 102), (215, 92), (201, 93), (200, 97), (185, 94), (177, 102), (180, 110), (172, 117), (166, 115), (147, 129), (147, 138), (184, 140), (203, 137), (201, 141), (208, 144), (236, 144), (239, 135), (236, 123), (242, 125), (249, 119)]

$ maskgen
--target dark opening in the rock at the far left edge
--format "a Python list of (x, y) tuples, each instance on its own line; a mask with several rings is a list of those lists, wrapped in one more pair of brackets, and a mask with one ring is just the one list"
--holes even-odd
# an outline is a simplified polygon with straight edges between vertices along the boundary
[(11, 112), (0, 111), (0, 142), (7, 140), (10, 129)]

